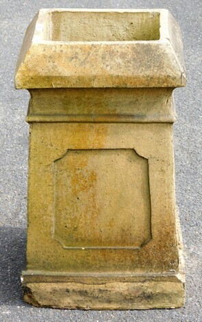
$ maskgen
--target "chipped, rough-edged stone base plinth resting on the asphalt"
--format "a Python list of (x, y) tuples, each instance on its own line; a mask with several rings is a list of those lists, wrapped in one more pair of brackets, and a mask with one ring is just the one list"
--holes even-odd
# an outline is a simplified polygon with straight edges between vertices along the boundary
[(24, 300), (42, 307), (132, 310), (184, 306), (183, 274), (59, 275), (24, 271)]

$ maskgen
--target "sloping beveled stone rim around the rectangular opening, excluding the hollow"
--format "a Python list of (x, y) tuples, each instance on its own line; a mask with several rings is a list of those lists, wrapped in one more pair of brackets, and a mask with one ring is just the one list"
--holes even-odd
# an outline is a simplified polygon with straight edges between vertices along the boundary
[[(51, 12), (159, 12), (159, 40), (128, 40), (128, 41), (53, 41), (49, 40), (49, 13)], [(48, 26), (48, 27), (47, 27)], [(175, 39), (176, 38), (176, 39)], [(45, 40), (47, 39), (47, 40)], [(85, 48), (84, 48), (85, 47)], [(88, 47), (88, 48), (87, 48)], [(94, 47), (94, 49), (92, 49)], [(118, 48), (119, 47), (119, 48)], [(147, 54), (147, 49), (151, 51)], [(61, 50), (62, 49), (62, 50)], [(126, 58), (121, 58), (121, 69), (114, 65), (110, 52), (118, 49), (121, 55), (127, 53), (130, 69)], [(68, 62), (74, 51), (79, 50), (79, 58), (73, 69)], [(53, 53), (54, 51), (54, 53)], [(61, 53), (63, 51), (63, 53)], [(86, 51), (86, 54), (85, 54)], [(87, 51), (94, 67), (85, 70), (81, 67), (83, 55)], [(160, 53), (157, 53), (160, 51)], [(101, 52), (105, 53), (101, 61)], [(136, 63), (136, 52), (140, 62)], [(54, 55), (56, 69), (48, 62)], [(144, 66), (142, 55), (147, 66)], [(148, 56), (149, 55), (149, 56)], [(83, 58), (82, 58), (83, 57)], [(87, 56), (86, 56), (87, 57)], [(163, 60), (162, 58), (163, 57)], [(64, 62), (64, 58), (66, 58)], [(158, 60), (162, 60), (158, 64)], [(38, 66), (41, 60), (42, 66)], [(164, 61), (166, 68), (164, 68)], [(62, 64), (62, 65), (61, 65)], [(108, 65), (110, 64), (110, 65)], [(140, 64), (140, 65), (139, 65)], [(107, 66), (111, 66), (110, 69)], [(152, 67), (152, 68), (151, 68)], [(55, 68), (55, 67), (54, 67)], [(96, 79), (96, 80), (95, 80)], [(41, 9), (27, 28), (23, 46), (16, 66), (16, 88), (90, 88), (90, 87), (181, 87), (186, 85), (186, 72), (178, 24), (166, 9)]]

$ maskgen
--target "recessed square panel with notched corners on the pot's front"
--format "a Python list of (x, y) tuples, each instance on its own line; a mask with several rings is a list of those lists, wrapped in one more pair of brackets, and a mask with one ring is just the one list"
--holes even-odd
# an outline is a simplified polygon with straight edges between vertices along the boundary
[(148, 160), (134, 149), (68, 149), (53, 177), (53, 236), (64, 248), (139, 248), (151, 239)]

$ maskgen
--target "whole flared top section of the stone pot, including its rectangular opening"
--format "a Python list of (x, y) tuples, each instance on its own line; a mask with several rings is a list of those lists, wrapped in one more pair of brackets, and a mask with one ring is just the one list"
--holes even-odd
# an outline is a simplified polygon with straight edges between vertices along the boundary
[(42, 9), (27, 29), (16, 68), (16, 88), (185, 82), (181, 34), (167, 10)]

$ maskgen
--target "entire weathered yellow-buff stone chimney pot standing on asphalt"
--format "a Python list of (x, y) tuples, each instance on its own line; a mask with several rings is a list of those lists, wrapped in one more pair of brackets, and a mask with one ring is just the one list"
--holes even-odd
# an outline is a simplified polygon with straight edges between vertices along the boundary
[(172, 134), (173, 88), (184, 84), (166, 10), (34, 18), (16, 69), (31, 94), (25, 301), (184, 305)]

